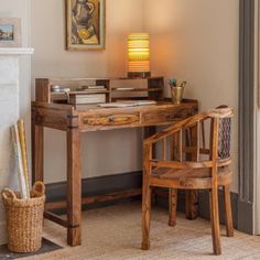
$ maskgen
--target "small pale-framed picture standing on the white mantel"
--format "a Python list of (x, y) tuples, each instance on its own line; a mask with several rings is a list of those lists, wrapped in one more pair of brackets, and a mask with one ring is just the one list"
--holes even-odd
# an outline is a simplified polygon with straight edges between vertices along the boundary
[(21, 47), (21, 19), (0, 18), (0, 47)]

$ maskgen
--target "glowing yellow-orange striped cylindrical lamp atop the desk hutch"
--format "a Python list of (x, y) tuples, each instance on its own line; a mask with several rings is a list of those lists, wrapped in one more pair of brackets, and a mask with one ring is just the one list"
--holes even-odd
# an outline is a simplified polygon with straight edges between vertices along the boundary
[(148, 33), (128, 35), (128, 77), (150, 77), (150, 37)]

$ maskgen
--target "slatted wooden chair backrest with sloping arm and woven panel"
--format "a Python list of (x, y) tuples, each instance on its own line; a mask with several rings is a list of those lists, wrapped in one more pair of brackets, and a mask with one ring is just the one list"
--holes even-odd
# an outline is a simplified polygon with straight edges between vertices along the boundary
[[(231, 118), (234, 109), (220, 106), (184, 119), (144, 140), (144, 144), (161, 145), (161, 159), (167, 161), (227, 160), (230, 158)], [(170, 141), (170, 153), (167, 152)], [(160, 147), (159, 147), (160, 148)], [(160, 150), (160, 149), (159, 149)], [(159, 160), (159, 154), (155, 154)], [(209, 156), (208, 159), (202, 156)], [(155, 158), (154, 158), (155, 159)]]

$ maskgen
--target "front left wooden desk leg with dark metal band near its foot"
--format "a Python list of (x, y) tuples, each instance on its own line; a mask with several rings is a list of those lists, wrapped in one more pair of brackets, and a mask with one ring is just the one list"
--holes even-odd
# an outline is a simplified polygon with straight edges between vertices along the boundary
[(82, 245), (80, 133), (67, 130), (67, 243)]

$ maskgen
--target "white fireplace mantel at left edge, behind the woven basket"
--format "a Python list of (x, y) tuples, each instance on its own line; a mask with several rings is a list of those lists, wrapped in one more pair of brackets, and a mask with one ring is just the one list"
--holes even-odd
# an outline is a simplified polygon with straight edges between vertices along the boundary
[[(34, 50), (30, 47), (0, 47), (0, 191), (6, 186), (12, 189), (18, 188), (10, 127), (20, 117), (20, 71), (21, 66), (28, 63), (28, 61), (20, 63), (20, 59), (24, 55), (32, 55), (33, 52)], [(30, 89), (31, 86), (25, 87)], [(4, 236), (6, 220), (1, 199), (0, 234), (0, 245), (2, 245), (7, 241), (7, 237)]]

